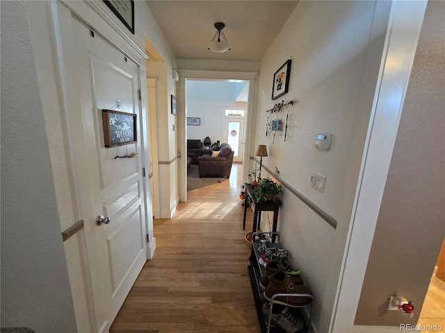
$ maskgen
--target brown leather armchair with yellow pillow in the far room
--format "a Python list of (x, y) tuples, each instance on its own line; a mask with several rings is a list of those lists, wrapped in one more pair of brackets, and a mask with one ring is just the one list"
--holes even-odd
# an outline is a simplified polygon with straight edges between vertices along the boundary
[(197, 157), (197, 168), (202, 177), (226, 177), (229, 178), (234, 160), (234, 151), (229, 144), (221, 144), (220, 156)]

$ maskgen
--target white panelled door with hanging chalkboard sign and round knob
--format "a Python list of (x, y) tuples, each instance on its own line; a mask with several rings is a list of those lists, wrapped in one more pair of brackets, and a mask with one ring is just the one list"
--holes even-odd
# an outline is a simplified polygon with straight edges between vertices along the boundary
[[(146, 260), (145, 198), (143, 191), (143, 133), (137, 142), (105, 147), (104, 123), (120, 121), (111, 136), (132, 126), (122, 119), (103, 119), (102, 110), (136, 114), (138, 67), (88, 28), (74, 23), (76, 76), (80, 109), (74, 112), (73, 144), (79, 165), (80, 196), (85, 221), (86, 248), (97, 332), (108, 332)], [(125, 119), (124, 119), (125, 120)], [(113, 132), (113, 130), (115, 130)], [(125, 140), (124, 140), (125, 141)], [(135, 157), (129, 156), (136, 153)], [(121, 158), (122, 157), (122, 158)], [(97, 216), (110, 219), (97, 225)]]

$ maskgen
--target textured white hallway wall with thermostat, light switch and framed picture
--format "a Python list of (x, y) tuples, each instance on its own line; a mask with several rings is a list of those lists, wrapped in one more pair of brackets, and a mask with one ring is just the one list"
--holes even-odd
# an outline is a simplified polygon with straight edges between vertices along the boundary
[[(263, 163), (338, 222), (334, 230), (285, 191), (280, 232), (314, 291), (318, 332), (330, 323), (380, 68), (388, 12), (374, 14), (374, 1), (300, 1), (261, 62), (256, 142), (268, 147)], [(288, 59), (289, 92), (272, 101), (273, 74)], [(296, 104), (266, 113), (282, 100)], [(285, 123), (287, 114), (286, 142), (277, 134), (273, 143), (266, 123)], [(330, 151), (316, 150), (318, 133), (332, 133)], [(313, 172), (326, 176), (324, 193), (311, 187)]]

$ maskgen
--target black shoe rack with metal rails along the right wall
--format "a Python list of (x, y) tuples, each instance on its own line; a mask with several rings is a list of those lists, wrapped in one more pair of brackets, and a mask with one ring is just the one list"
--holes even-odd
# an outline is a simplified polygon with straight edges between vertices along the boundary
[[(276, 243), (273, 243), (273, 246), (276, 248), (283, 248), (282, 244), (280, 244), (280, 234), (277, 232), (254, 232), (252, 234), (252, 239), (254, 239), (255, 234), (268, 234), (270, 238), (273, 239), (275, 242), (275, 239), (278, 238)], [(269, 307), (269, 316), (266, 318), (263, 314), (263, 304), (264, 300), (261, 297), (261, 289), (259, 288), (259, 282), (261, 281), (261, 277), (264, 273), (264, 266), (259, 264), (259, 258), (261, 258), (261, 253), (258, 252), (257, 248), (259, 247), (259, 241), (252, 241), (252, 246), (250, 250), (250, 265), (248, 266), (249, 276), (250, 276), (250, 284), (252, 284), (252, 292), (254, 296), (255, 305), (257, 307), (257, 315), (259, 319), (259, 325), (261, 327), (261, 333), (282, 333), (283, 331), (279, 327), (274, 327), (270, 323), (270, 315), (272, 314), (272, 309), (274, 306), (274, 300), (275, 298), (279, 296), (288, 296), (288, 297), (309, 297), (312, 298), (312, 302), (310, 302), (308, 305), (304, 305), (302, 307), (309, 307), (310, 306), (310, 312), (309, 312), (309, 318), (305, 316), (305, 311), (300, 311), (300, 318), (305, 318), (307, 321), (305, 322), (305, 327), (303, 327), (298, 332), (302, 333), (308, 333), (309, 327), (312, 325), (312, 314), (314, 313), (314, 296), (312, 296), (309, 293), (277, 293), (276, 295), (272, 296), (270, 298), (271, 304)], [(289, 264), (289, 263), (288, 263)], [(300, 309), (302, 310), (302, 309)]]

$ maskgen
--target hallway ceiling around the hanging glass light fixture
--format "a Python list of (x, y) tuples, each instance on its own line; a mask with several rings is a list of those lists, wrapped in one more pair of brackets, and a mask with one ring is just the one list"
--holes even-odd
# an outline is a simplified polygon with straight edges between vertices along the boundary
[[(298, 1), (146, 0), (177, 59), (261, 61)], [(232, 49), (207, 49), (215, 22)]]

